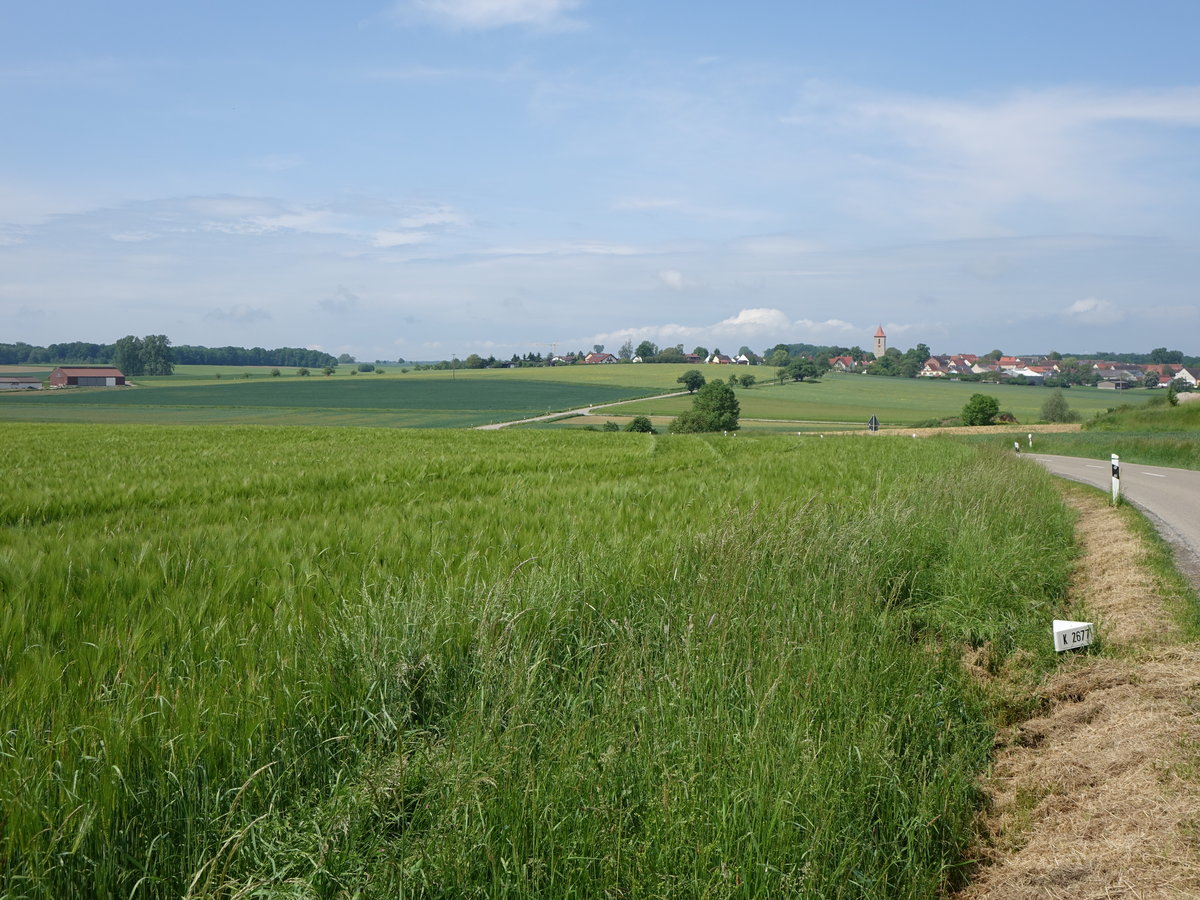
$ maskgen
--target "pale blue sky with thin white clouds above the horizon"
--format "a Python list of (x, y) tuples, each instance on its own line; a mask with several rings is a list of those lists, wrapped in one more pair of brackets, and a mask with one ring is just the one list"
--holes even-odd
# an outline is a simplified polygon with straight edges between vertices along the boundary
[(1195, 0), (0, 0), (0, 341), (1200, 354)]

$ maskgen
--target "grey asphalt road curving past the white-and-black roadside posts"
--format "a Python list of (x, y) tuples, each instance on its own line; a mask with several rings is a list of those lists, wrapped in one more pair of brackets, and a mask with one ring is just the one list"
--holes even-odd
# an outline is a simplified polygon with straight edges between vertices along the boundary
[[(1027, 454), (1055, 475), (1110, 491), (1108, 461)], [(1200, 472), (1121, 463), (1121, 494), (1145, 512), (1176, 551), (1180, 569), (1200, 589)]]

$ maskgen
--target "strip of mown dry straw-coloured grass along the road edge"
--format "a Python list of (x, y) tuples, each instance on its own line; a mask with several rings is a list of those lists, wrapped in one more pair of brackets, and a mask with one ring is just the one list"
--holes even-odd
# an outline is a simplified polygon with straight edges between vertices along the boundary
[(1079, 510), (1073, 596), (1110, 655), (1063, 660), (1039, 691), (1045, 714), (1002, 737), (983, 865), (959, 896), (1195, 898), (1200, 647), (1180, 643), (1123, 514), (1099, 494), (1067, 499)]

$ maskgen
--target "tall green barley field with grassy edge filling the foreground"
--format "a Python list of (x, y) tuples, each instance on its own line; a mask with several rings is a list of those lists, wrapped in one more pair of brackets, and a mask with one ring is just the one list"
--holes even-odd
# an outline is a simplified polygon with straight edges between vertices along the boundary
[(0, 446), (13, 900), (935, 896), (997, 714), (962, 648), (1048, 665), (1069, 612), (1049, 476), (948, 442)]

